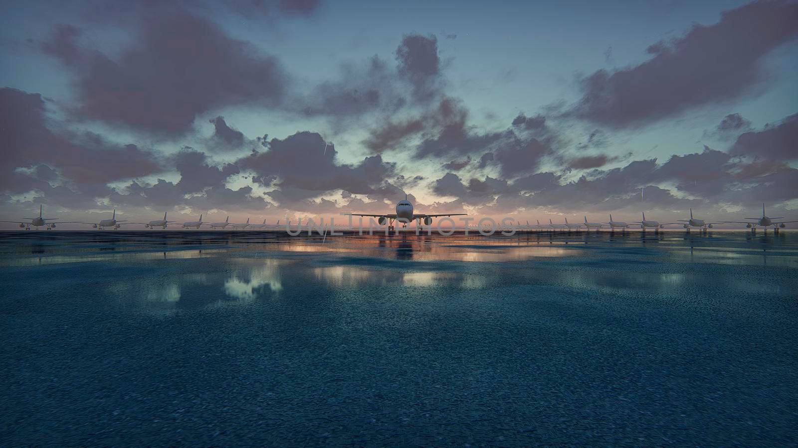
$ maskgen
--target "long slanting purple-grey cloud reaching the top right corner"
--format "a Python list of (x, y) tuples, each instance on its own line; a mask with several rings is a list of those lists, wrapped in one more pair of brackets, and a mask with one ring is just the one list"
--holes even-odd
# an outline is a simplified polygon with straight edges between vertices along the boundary
[(732, 100), (767, 79), (762, 58), (796, 34), (796, 2), (725, 11), (717, 24), (651, 45), (649, 61), (585, 77), (583, 96), (567, 115), (624, 128)]

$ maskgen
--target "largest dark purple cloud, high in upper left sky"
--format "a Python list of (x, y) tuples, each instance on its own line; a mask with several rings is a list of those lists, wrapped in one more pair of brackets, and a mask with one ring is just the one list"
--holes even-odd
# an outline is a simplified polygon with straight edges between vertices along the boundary
[(195, 117), (231, 104), (279, 104), (287, 79), (275, 57), (182, 10), (137, 22), (137, 41), (109, 57), (59, 26), (41, 49), (75, 76), (78, 115), (174, 136)]

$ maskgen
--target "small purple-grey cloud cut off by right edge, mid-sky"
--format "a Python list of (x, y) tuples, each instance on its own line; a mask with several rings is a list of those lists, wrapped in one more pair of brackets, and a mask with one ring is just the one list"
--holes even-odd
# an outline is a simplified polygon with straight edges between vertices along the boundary
[(762, 131), (745, 132), (737, 137), (731, 152), (765, 159), (798, 159), (798, 114), (788, 116), (775, 126), (768, 125)]

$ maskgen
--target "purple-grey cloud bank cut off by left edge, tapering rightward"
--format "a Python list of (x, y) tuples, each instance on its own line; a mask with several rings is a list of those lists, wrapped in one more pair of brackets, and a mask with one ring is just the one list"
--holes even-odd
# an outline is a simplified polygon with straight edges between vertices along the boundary
[[(74, 183), (100, 184), (160, 171), (152, 151), (120, 145), (92, 132), (73, 132), (50, 126), (45, 101), (38, 93), (0, 89), (0, 188), (21, 191), (17, 167), (36, 167), (38, 179), (53, 180), (57, 171)], [(46, 167), (42, 167), (42, 164)], [(41, 176), (44, 177), (41, 177)], [(16, 180), (15, 180), (16, 179)]]

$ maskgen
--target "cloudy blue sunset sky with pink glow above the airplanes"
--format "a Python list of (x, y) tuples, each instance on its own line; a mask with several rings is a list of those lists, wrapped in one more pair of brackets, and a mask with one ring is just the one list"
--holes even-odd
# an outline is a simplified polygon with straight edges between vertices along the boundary
[(0, 219), (798, 217), (798, 2), (2, 3)]

